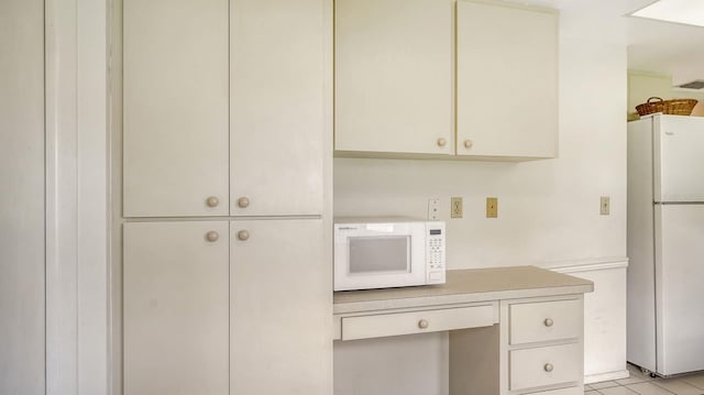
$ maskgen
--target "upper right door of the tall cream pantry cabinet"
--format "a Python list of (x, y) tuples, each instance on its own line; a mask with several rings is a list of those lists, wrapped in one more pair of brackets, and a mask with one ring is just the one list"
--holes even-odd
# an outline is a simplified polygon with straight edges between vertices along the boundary
[(322, 211), (323, 4), (231, 2), (233, 216)]

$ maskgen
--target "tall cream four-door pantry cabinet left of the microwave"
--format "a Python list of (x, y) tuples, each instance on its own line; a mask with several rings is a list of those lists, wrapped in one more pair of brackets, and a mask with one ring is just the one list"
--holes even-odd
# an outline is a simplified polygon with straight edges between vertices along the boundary
[(123, 1), (123, 389), (329, 394), (322, 0)]

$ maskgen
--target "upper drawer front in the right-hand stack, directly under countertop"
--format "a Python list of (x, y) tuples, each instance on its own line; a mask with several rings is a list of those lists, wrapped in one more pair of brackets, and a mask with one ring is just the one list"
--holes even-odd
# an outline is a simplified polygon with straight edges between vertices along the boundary
[(510, 343), (579, 338), (583, 309), (581, 299), (510, 305)]

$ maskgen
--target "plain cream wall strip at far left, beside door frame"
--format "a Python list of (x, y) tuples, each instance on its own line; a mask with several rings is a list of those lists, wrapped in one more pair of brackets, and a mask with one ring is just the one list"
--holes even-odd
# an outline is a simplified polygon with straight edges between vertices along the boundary
[(0, 1), (0, 394), (44, 394), (44, 1)]

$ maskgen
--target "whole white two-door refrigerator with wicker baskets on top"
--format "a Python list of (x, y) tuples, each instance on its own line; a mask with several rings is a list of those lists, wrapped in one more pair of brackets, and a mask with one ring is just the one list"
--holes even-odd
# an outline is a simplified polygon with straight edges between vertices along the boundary
[(704, 118), (628, 123), (628, 361), (704, 370)]

